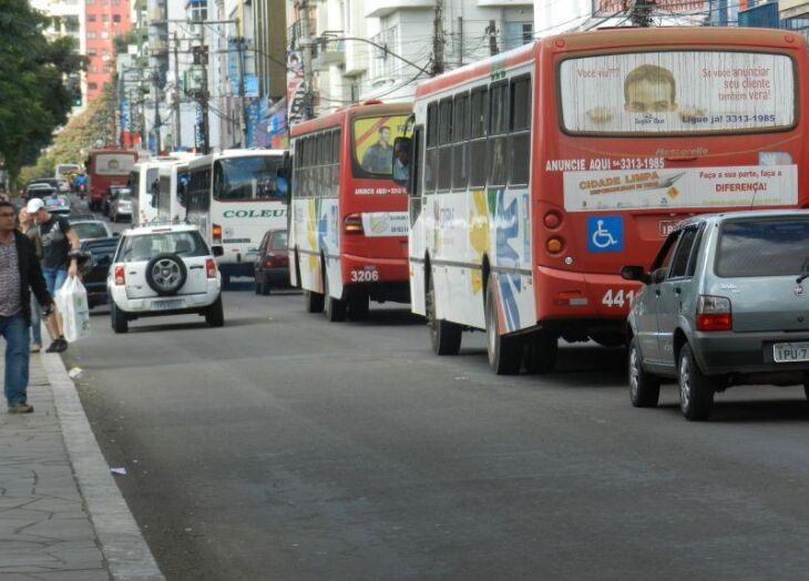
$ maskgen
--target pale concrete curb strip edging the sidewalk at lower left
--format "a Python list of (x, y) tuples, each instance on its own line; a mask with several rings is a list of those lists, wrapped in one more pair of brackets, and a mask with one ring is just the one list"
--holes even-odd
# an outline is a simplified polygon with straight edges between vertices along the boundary
[(165, 581), (110, 473), (62, 359), (55, 354), (43, 354), (41, 358), (53, 391), (68, 457), (110, 577), (116, 581)]

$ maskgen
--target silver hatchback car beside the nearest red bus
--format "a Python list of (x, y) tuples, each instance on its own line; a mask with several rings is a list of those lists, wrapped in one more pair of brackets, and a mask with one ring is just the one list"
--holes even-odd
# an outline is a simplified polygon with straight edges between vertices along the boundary
[(621, 274), (644, 283), (627, 320), (634, 406), (656, 406), (666, 379), (689, 420), (734, 385), (803, 385), (809, 397), (809, 212), (693, 217), (651, 271)]

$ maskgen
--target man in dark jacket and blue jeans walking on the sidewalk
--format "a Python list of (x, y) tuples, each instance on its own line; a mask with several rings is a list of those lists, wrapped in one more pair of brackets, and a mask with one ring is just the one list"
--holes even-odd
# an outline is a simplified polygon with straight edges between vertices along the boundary
[(30, 357), (31, 292), (44, 315), (53, 309), (33, 243), (17, 231), (14, 206), (0, 202), (0, 335), (6, 339), (3, 381), (9, 414), (30, 414), (28, 365)]

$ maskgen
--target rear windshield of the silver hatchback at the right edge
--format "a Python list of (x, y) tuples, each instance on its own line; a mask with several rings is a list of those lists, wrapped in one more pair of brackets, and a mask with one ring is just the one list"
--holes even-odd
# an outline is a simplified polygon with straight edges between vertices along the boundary
[(809, 218), (735, 220), (723, 224), (716, 274), (724, 278), (809, 272)]

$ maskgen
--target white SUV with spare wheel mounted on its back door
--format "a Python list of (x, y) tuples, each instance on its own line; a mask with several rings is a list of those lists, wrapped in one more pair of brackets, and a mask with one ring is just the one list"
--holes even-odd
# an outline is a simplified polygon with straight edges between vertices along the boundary
[(106, 278), (115, 333), (126, 333), (139, 317), (205, 315), (222, 327), (222, 276), (196, 226), (127, 230), (121, 235)]

